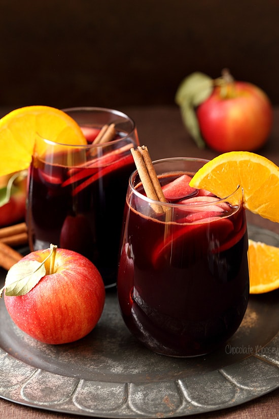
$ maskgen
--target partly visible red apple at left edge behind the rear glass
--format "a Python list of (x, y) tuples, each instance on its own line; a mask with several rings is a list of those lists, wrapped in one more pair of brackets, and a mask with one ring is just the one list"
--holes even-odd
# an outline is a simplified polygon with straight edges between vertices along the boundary
[[(24, 219), (26, 205), (26, 177), (15, 178), (6, 202), (7, 184), (11, 176), (0, 179), (0, 228)], [(2, 205), (1, 205), (2, 204)]]

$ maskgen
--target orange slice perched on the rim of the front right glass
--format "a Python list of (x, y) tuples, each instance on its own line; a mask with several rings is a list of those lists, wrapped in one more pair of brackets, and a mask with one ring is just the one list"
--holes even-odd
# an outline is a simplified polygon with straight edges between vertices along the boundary
[[(279, 168), (259, 154), (248, 151), (220, 154), (199, 169), (189, 185), (207, 189), (219, 198), (228, 197), (240, 185), (246, 209), (279, 222)], [(233, 199), (229, 201), (236, 204)]]

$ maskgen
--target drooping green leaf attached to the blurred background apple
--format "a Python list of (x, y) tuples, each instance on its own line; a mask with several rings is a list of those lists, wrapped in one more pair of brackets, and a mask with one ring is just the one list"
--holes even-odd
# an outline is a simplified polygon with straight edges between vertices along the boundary
[(211, 77), (196, 72), (182, 81), (175, 96), (175, 101), (181, 109), (184, 125), (199, 148), (204, 147), (205, 142), (200, 133), (195, 108), (211, 95), (213, 88)]

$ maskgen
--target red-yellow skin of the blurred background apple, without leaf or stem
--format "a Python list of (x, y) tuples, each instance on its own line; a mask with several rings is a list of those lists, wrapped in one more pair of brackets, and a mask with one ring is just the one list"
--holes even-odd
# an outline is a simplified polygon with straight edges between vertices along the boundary
[(205, 143), (219, 152), (260, 148), (272, 124), (267, 95), (254, 84), (240, 81), (234, 82), (234, 95), (229, 94), (228, 98), (222, 98), (221, 88), (215, 87), (196, 114)]

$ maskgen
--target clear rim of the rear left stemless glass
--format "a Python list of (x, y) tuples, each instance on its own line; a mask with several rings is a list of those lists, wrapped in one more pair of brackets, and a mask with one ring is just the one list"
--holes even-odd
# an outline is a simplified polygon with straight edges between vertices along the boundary
[[(130, 135), (135, 131), (136, 126), (135, 126), (135, 121), (133, 120), (133, 118), (131, 118), (130, 116), (128, 116), (127, 114), (125, 114), (122, 111), (118, 111), (117, 109), (113, 109), (113, 108), (102, 108), (102, 107), (97, 107), (97, 106), (80, 106), (80, 107), (74, 107), (74, 108), (63, 108), (61, 109), (62, 112), (68, 112), (68, 111), (100, 111), (100, 112), (107, 112), (109, 113), (113, 113), (117, 116), (120, 116), (124, 119), (126, 119), (128, 122), (131, 123), (131, 130), (123, 137), (118, 138), (117, 140), (111, 140), (108, 141), (106, 143), (101, 143), (101, 144), (66, 144), (66, 143), (58, 143), (56, 141), (53, 140), (49, 140), (48, 138), (44, 138), (43, 136), (41, 136), (41, 134), (36, 133), (43, 141), (45, 141), (47, 144), (49, 145), (59, 145), (59, 146), (66, 146), (66, 147), (72, 147), (73, 149), (75, 148), (81, 148), (81, 149), (85, 149), (85, 148), (105, 148), (108, 147), (112, 144), (118, 144), (121, 143), (122, 141), (128, 139), (130, 137)], [(74, 118), (73, 118), (74, 119)]]

